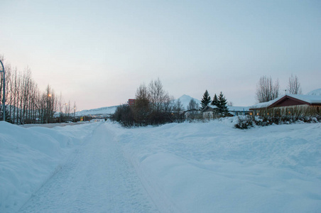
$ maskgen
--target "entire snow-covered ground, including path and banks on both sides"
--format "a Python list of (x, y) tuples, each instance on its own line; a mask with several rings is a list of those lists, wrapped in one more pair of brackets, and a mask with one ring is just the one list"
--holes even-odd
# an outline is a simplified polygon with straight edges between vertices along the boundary
[(0, 212), (320, 212), (321, 124), (0, 122)]

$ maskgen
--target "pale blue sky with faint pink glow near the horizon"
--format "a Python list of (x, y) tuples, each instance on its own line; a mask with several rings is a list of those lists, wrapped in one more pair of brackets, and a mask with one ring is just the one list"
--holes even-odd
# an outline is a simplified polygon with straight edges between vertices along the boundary
[[(321, 1), (0, 2), (0, 54), (77, 109), (126, 103), (158, 77), (175, 98), (256, 103), (262, 75), (321, 88)], [(283, 91), (282, 91), (283, 92)]]

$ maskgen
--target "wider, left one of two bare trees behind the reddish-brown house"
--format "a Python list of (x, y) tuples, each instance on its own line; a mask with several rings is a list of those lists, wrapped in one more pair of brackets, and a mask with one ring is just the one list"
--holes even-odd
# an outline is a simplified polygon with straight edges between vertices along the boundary
[(273, 84), (271, 77), (262, 76), (256, 85), (256, 99), (259, 103), (269, 102), (278, 97), (278, 80)]

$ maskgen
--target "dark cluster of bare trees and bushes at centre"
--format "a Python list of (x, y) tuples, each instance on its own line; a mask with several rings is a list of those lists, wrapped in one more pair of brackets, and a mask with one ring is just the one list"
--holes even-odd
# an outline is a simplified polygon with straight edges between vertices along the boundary
[(135, 104), (123, 104), (117, 107), (111, 119), (123, 126), (158, 125), (184, 120), (183, 104), (175, 102), (163, 89), (160, 80), (141, 84), (135, 94)]

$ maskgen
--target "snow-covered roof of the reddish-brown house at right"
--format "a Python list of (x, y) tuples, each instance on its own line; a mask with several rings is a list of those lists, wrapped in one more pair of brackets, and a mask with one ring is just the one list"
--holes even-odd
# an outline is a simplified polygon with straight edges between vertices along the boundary
[(321, 96), (318, 95), (304, 95), (304, 94), (286, 94), (283, 97), (278, 97), (270, 102), (263, 102), (249, 107), (254, 109), (269, 109), (272, 107), (286, 107), (296, 105), (311, 105), (321, 106)]

